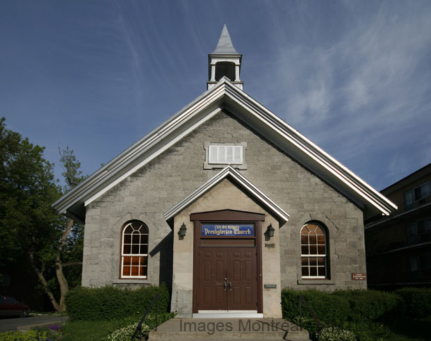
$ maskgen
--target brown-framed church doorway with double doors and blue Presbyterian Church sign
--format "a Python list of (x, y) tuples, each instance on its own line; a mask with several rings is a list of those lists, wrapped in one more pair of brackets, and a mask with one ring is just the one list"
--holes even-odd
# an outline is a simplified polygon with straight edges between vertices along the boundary
[(261, 222), (238, 210), (192, 213), (193, 316), (215, 313), (263, 317)]

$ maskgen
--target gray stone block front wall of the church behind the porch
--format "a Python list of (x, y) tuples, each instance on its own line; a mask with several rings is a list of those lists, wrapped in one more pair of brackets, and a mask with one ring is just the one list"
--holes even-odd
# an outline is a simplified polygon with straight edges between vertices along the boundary
[[(172, 282), (172, 231), (163, 213), (220, 171), (204, 169), (205, 142), (245, 142), (247, 169), (241, 169), (241, 174), (291, 215), (279, 231), (282, 288), (366, 287), (365, 282), (351, 281), (352, 272), (366, 272), (361, 210), (225, 113), (215, 115), (90, 203), (84, 237), (83, 285)], [(141, 220), (149, 228), (147, 280), (119, 279), (120, 232), (130, 219)], [(300, 279), (300, 228), (310, 220), (323, 222), (329, 232), (330, 281)]]

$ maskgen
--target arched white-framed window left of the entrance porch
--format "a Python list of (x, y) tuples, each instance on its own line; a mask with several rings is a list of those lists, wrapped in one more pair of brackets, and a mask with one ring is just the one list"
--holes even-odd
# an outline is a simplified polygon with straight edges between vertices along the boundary
[(148, 228), (143, 222), (124, 224), (121, 247), (121, 278), (147, 278)]

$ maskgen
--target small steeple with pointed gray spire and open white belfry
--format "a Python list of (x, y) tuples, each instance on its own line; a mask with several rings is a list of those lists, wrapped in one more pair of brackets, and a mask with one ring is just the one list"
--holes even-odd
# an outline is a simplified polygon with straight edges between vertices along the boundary
[(211, 89), (222, 77), (227, 77), (234, 85), (243, 90), (243, 82), (239, 79), (242, 57), (243, 55), (234, 48), (225, 24), (217, 47), (213, 53), (208, 55), (209, 81), (206, 82), (207, 89)]

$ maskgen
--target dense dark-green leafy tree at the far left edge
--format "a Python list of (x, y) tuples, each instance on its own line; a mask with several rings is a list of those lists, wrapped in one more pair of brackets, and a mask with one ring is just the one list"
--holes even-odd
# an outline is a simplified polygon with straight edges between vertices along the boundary
[[(58, 215), (51, 202), (60, 195), (53, 166), (43, 147), (6, 128), (0, 119), (0, 259), (35, 261), (47, 241), (55, 240)], [(18, 264), (17, 264), (18, 265)]]

